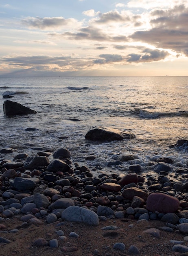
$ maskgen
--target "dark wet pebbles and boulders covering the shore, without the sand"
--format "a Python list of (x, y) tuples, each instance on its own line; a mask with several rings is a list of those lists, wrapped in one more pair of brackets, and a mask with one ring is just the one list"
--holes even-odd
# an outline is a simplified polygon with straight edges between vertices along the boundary
[[(1, 150), (1, 153), (11, 153)], [(53, 157), (50, 161), (49, 158)], [(126, 158), (126, 156), (121, 156)], [(0, 229), (6, 234), (4, 220), (21, 215), (24, 225), (44, 221), (48, 224), (64, 221), (83, 222), (97, 226), (107, 219), (129, 219), (146, 222), (161, 220), (162, 230), (188, 234), (188, 174), (177, 173), (171, 179), (171, 159), (158, 159), (153, 166), (158, 177), (144, 178), (138, 174), (139, 165), (130, 166), (124, 176), (101, 173), (94, 177), (87, 166), (71, 162), (70, 151), (60, 148), (55, 152), (38, 152), (35, 156), (18, 154), (14, 159), (0, 163)], [(88, 156), (87, 159), (94, 159)], [(129, 156), (127, 156), (127, 161)], [(120, 159), (118, 159), (119, 161)], [(109, 229), (116, 229), (115, 226)], [(12, 230), (11, 232), (17, 232)], [(146, 229), (153, 237), (160, 236), (159, 229)], [(77, 237), (71, 232), (69, 236)], [(65, 240), (59, 231), (59, 240)], [(0, 243), (11, 243), (0, 237)], [(182, 241), (173, 241), (172, 250), (188, 253)], [(44, 238), (33, 241), (33, 246), (58, 247), (58, 240), (47, 242)], [(62, 252), (76, 251), (75, 246), (64, 246)], [(123, 243), (115, 243), (114, 250), (125, 251)], [(97, 253), (97, 252), (96, 252)], [(135, 245), (128, 250), (140, 254)], [(182, 254), (183, 255), (183, 254)]]

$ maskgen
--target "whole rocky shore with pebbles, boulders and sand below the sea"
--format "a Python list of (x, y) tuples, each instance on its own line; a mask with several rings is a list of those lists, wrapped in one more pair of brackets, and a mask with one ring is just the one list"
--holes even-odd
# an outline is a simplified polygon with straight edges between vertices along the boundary
[(0, 152), (0, 255), (188, 255), (188, 170), (170, 158), (151, 163), (157, 178), (139, 164), (94, 177), (66, 148)]

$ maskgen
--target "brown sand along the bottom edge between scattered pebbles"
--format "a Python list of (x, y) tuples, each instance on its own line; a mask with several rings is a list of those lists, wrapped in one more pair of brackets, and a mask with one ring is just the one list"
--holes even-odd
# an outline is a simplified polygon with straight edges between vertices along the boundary
[[(181, 253), (173, 252), (173, 243), (170, 240), (184, 241), (184, 235), (174, 232), (160, 231), (160, 238), (155, 238), (143, 231), (149, 228), (160, 228), (165, 226), (165, 222), (152, 220), (148, 222), (137, 223), (137, 220), (116, 219), (100, 221), (98, 226), (86, 225), (79, 222), (65, 222), (64, 225), (57, 226), (59, 222), (48, 224), (42, 220), (42, 225), (23, 224), (19, 220), (20, 216), (13, 216), (5, 219), (1, 224), (5, 225), (3, 231), (18, 229), (17, 233), (0, 233), (1, 237), (11, 240), (11, 243), (0, 243), (1, 256), (116, 256), (130, 255), (128, 249), (135, 245), (140, 250), (140, 256), (173, 256)], [(117, 226), (117, 230), (102, 230), (102, 227)], [(55, 233), (57, 230), (63, 230), (67, 237), (65, 241), (59, 240)], [(2, 230), (1, 230), (2, 231)], [(76, 232), (78, 238), (68, 237), (70, 232)], [(47, 241), (57, 239), (58, 248), (49, 246), (36, 247), (33, 242), (37, 238), (45, 238)], [(67, 244), (68, 243), (68, 244)], [(124, 243), (125, 250), (115, 250), (115, 243)], [(61, 252), (61, 248), (69, 245), (77, 247), (75, 252)], [(183, 245), (188, 245), (184, 241)]]

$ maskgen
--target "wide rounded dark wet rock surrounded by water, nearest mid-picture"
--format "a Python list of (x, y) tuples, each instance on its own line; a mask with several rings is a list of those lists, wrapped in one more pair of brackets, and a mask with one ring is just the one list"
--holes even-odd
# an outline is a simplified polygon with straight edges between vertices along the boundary
[(93, 141), (114, 141), (122, 139), (133, 139), (135, 137), (136, 136), (129, 131), (125, 132), (105, 127), (94, 127), (85, 135), (85, 139), (90, 139)]

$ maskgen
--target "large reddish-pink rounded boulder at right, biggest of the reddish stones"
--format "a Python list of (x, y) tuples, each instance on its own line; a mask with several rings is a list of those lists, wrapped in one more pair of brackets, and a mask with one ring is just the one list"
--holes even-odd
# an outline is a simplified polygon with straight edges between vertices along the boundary
[(173, 213), (179, 207), (179, 200), (164, 193), (152, 193), (147, 198), (146, 208), (149, 211), (160, 213)]

